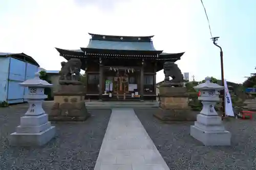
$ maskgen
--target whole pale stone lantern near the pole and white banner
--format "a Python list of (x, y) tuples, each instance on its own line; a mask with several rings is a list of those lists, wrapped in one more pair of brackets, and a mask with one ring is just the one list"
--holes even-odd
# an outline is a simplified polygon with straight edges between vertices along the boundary
[(221, 117), (214, 108), (220, 101), (219, 90), (223, 88), (211, 83), (209, 77), (205, 78), (205, 83), (194, 87), (200, 91), (198, 99), (202, 102), (203, 109), (197, 115), (195, 125), (190, 127), (190, 135), (205, 145), (230, 145), (231, 133), (225, 130)]

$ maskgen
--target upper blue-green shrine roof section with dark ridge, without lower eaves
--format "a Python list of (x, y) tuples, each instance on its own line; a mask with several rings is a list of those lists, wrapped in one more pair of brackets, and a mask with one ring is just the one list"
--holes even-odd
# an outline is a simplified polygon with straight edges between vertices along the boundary
[[(90, 33), (89, 33), (90, 34)], [(153, 36), (113, 36), (90, 34), (92, 38), (87, 48), (102, 50), (156, 51)]]

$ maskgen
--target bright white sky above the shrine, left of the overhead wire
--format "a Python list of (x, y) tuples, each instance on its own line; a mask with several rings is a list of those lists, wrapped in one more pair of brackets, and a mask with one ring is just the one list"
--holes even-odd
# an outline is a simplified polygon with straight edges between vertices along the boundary
[[(54, 47), (71, 50), (86, 47), (90, 39), (88, 32), (126, 36), (155, 35), (153, 42), (157, 50), (167, 53), (186, 52), (177, 64), (182, 72), (189, 72), (190, 79), (192, 75), (195, 75), (196, 80), (206, 76), (220, 78), (219, 49), (209, 40), (207, 20), (200, 1), (8, 2), (5, 3), (5, 15), (0, 15), (0, 51), (24, 52), (47, 70), (59, 70), (60, 62), (65, 61)], [(211, 51), (205, 50), (204, 44), (209, 45)], [(200, 59), (210, 53), (217, 56), (218, 69), (210, 71), (215, 67), (209, 66), (208, 72), (202, 71), (199, 68), (202, 65)], [(163, 72), (159, 71), (157, 82), (163, 79)]]

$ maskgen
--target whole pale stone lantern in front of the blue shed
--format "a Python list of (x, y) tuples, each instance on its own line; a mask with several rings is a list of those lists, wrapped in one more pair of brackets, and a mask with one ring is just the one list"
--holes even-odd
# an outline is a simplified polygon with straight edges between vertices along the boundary
[(26, 96), (29, 109), (20, 118), (16, 132), (10, 135), (10, 144), (19, 146), (44, 145), (55, 136), (55, 127), (48, 122), (48, 115), (42, 109), (42, 102), (47, 98), (45, 87), (51, 87), (47, 81), (39, 79), (39, 73), (34, 79), (26, 80), (20, 85), (28, 87)]

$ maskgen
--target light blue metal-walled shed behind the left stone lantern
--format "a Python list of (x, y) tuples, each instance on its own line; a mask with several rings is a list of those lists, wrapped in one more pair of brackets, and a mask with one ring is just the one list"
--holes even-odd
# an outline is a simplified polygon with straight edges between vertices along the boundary
[(0, 53), (0, 102), (26, 102), (24, 96), (28, 88), (19, 83), (34, 78), (38, 68), (39, 64), (24, 53)]

